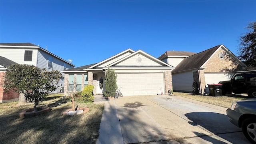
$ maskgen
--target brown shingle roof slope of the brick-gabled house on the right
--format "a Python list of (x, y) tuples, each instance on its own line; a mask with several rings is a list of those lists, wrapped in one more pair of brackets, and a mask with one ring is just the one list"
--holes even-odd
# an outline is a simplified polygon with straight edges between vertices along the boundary
[(178, 66), (176, 66), (175, 69), (172, 70), (172, 73), (200, 68), (220, 46), (221, 44), (203, 52), (184, 58), (184, 60), (182, 60), (180, 64), (178, 64)]

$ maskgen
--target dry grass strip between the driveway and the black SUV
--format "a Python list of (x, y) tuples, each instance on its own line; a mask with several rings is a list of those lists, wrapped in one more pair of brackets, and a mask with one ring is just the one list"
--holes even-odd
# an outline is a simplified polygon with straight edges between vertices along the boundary
[(190, 93), (174, 92), (174, 95), (198, 100), (200, 102), (206, 102), (208, 104), (214, 104), (216, 106), (222, 106), (224, 108), (230, 108), (231, 104), (237, 100), (246, 99), (247, 96), (240, 96), (235, 94), (226, 94), (226, 96), (206, 96), (206, 95), (194, 95)]

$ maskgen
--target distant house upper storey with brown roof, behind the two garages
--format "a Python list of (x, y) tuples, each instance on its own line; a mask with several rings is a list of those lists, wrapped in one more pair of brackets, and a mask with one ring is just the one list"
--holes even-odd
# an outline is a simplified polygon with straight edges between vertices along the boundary
[(162, 54), (158, 59), (176, 67), (184, 58), (196, 54), (194, 52), (182, 52), (182, 51), (167, 51)]

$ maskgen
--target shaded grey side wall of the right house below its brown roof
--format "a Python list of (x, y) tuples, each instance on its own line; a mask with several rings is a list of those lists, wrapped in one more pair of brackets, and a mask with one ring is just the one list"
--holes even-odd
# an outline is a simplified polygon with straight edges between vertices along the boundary
[(172, 86), (176, 92), (192, 92), (193, 72), (172, 74)]

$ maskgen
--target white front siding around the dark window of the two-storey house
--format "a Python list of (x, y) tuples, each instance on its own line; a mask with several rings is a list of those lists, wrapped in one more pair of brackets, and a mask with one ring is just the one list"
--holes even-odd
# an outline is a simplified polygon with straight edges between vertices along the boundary
[[(24, 61), (25, 50), (32, 50), (32, 61)], [(0, 55), (18, 64), (31, 64), (36, 66), (37, 49), (32, 48), (0, 48)]]

